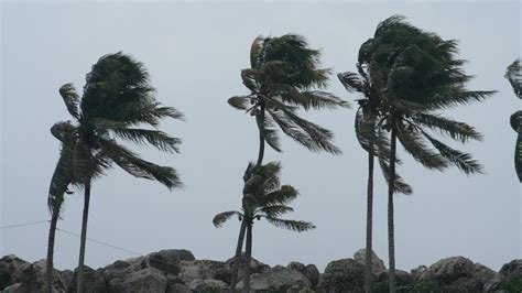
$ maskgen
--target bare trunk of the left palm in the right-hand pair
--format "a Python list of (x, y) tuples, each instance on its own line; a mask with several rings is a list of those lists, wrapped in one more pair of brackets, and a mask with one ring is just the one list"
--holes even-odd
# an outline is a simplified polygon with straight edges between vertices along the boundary
[(373, 225), (373, 141), (370, 142), (368, 152), (368, 186), (367, 186), (367, 214), (366, 214), (366, 256), (365, 256), (365, 292), (371, 292), (372, 281), (372, 225)]

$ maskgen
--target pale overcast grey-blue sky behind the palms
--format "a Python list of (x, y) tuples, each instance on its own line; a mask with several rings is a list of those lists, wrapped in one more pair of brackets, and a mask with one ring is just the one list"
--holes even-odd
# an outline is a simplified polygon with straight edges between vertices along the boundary
[[(505, 67), (521, 52), (521, 2), (83, 2), (1, 4), (1, 217), (0, 226), (50, 218), (46, 197), (59, 144), (51, 126), (70, 119), (58, 88), (81, 89), (97, 59), (122, 51), (144, 63), (159, 99), (184, 111), (187, 121), (162, 129), (183, 138), (180, 155), (142, 149), (143, 158), (175, 166), (186, 185), (170, 193), (157, 183), (115, 170), (95, 182), (88, 237), (140, 253), (185, 248), (198, 259), (232, 256), (239, 223), (220, 229), (211, 218), (240, 205), (242, 174), (257, 156), (253, 119), (227, 105), (246, 94), (240, 69), (249, 66), (251, 41), (260, 34), (303, 34), (323, 48), (323, 65), (354, 70), (358, 48), (377, 24), (400, 13), (414, 25), (460, 40), (472, 89), (499, 93), (480, 105), (445, 115), (476, 126), (486, 139), (464, 146), (485, 175), (437, 173), (400, 153), (401, 174), (414, 187), (396, 196), (396, 267), (410, 270), (464, 256), (498, 270), (522, 257), (521, 185), (513, 167), (515, 132), (509, 117), (521, 109)], [(335, 76), (328, 90), (348, 100)], [(292, 260), (320, 269), (365, 246), (367, 156), (354, 133), (355, 109), (311, 111), (306, 117), (336, 133), (342, 155), (311, 153), (283, 139), (283, 183), (301, 197), (289, 217), (317, 229), (294, 234), (259, 223), (253, 256), (269, 264)], [(454, 143), (452, 143), (454, 144)], [(388, 262), (385, 183), (376, 172), (376, 252)], [(58, 227), (78, 232), (83, 196), (67, 196)], [(0, 254), (45, 258), (48, 225), (0, 230)], [(57, 232), (55, 263), (77, 264), (79, 239)], [(86, 264), (98, 268), (132, 254), (88, 242)]]

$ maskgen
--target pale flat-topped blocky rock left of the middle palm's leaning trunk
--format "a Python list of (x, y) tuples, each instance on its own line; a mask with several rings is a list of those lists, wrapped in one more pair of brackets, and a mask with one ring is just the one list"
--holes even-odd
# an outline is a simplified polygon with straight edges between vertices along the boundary
[(228, 268), (226, 268), (225, 262), (214, 261), (214, 260), (196, 260), (196, 261), (186, 261), (180, 264), (180, 278), (188, 283), (193, 280), (220, 280), (224, 282), (229, 282), (230, 276), (227, 275)]

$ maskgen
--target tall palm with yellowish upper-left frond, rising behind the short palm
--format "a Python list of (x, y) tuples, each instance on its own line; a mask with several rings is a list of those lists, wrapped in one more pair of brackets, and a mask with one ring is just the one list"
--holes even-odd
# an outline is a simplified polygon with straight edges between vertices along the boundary
[[(296, 34), (258, 36), (252, 42), (250, 68), (241, 70), (242, 83), (250, 94), (231, 97), (228, 102), (233, 108), (255, 117), (259, 131), (258, 165), (263, 162), (265, 143), (278, 152), (282, 151), (276, 127), (314, 152), (341, 153), (331, 142), (331, 131), (297, 113), (300, 109), (307, 111), (348, 107), (346, 101), (322, 90), (326, 87), (330, 69), (319, 68), (319, 56), (318, 50), (309, 48), (305, 39)], [(232, 265), (232, 291), (237, 283), (238, 260), (246, 230), (247, 224), (243, 223), (239, 230), (236, 261)]]

